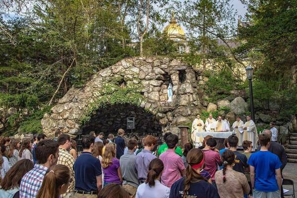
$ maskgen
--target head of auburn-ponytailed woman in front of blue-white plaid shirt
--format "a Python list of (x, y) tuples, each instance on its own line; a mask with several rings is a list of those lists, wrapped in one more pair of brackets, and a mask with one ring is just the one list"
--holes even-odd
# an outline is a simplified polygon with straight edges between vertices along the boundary
[(53, 166), (45, 175), (36, 198), (59, 198), (66, 193), (70, 183), (69, 168), (62, 164)]

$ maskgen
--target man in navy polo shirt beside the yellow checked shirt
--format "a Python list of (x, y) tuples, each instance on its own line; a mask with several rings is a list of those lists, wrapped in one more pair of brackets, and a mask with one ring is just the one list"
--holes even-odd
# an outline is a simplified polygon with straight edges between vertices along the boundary
[(75, 173), (75, 198), (97, 198), (102, 188), (101, 163), (92, 155), (95, 137), (86, 135), (82, 139), (83, 152), (76, 159), (73, 169)]

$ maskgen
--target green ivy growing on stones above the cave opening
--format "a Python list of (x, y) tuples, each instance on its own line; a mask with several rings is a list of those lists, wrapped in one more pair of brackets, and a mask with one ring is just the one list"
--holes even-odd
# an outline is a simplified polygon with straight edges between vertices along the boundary
[(116, 83), (119, 80), (114, 79), (112, 82), (103, 85), (102, 90), (98, 93), (98, 99), (90, 103), (85, 110), (80, 120), (81, 124), (88, 122), (97, 110), (104, 108), (107, 104), (131, 104), (140, 106), (144, 100), (143, 95), (141, 95), (142, 88), (135, 85), (120, 87)]

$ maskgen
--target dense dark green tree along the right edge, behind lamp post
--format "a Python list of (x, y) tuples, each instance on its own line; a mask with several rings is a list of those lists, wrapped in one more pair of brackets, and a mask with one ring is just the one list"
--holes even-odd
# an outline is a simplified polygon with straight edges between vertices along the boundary
[[(246, 42), (237, 53), (256, 62), (255, 97), (262, 109), (275, 102), (279, 111), (297, 113), (297, 1), (242, 1), (248, 6), (250, 25), (239, 29), (239, 38)], [(263, 99), (263, 94), (271, 97)]]

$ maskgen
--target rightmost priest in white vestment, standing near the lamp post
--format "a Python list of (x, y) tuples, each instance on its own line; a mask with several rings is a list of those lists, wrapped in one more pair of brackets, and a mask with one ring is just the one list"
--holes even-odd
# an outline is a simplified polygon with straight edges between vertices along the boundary
[(247, 122), (244, 125), (243, 141), (248, 140), (252, 142), (252, 151), (257, 149), (258, 132), (255, 123), (251, 120), (250, 115), (247, 116)]

